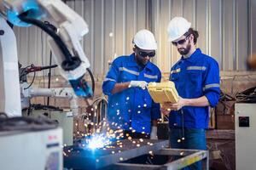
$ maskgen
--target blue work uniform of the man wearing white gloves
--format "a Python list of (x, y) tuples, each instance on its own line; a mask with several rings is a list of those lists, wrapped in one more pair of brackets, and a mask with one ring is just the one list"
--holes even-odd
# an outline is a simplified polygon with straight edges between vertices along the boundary
[(114, 59), (102, 85), (103, 93), (108, 95), (107, 117), (111, 127), (150, 133), (151, 121), (160, 118), (160, 105), (154, 103), (147, 88), (126, 88), (116, 94), (111, 94), (111, 91), (119, 82), (160, 82), (160, 79), (161, 73), (156, 65), (149, 61), (141, 68), (134, 54)]

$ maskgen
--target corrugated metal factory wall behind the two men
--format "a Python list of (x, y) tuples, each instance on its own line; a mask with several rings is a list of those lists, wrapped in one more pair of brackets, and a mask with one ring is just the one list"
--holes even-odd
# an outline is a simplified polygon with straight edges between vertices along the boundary
[[(158, 41), (154, 63), (168, 72), (179, 59), (166, 35), (174, 16), (191, 21), (200, 33), (198, 47), (218, 60), (221, 71), (247, 71), (247, 57), (256, 53), (256, 0), (73, 0), (67, 4), (89, 25), (83, 47), (96, 77), (106, 74), (108, 62), (115, 57), (131, 54), (132, 37), (143, 28), (153, 31)], [(15, 33), (23, 65), (49, 65), (43, 31), (15, 27)]]

